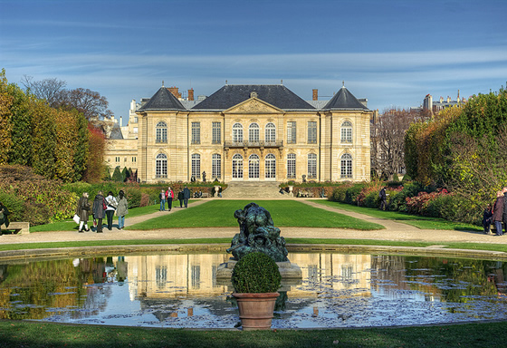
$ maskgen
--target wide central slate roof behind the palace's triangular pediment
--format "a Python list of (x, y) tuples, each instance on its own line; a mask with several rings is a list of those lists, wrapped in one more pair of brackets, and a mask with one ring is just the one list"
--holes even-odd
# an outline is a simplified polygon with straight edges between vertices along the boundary
[(285, 111), (315, 110), (308, 102), (303, 101), (282, 84), (226, 84), (191, 110), (224, 111), (250, 99), (252, 92), (257, 93), (256, 98)]

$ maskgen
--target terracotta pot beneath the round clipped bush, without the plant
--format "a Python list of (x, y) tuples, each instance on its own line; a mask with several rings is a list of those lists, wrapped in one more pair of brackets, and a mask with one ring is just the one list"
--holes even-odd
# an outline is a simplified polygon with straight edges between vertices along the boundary
[(234, 293), (243, 330), (269, 330), (278, 293)]

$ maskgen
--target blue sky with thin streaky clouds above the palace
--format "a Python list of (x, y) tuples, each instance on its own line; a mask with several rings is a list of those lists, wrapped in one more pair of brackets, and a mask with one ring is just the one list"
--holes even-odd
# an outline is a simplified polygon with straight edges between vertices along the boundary
[(305, 100), (345, 81), (383, 111), (505, 86), (506, 14), (505, 0), (0, 0), (0, 68), (100, 92), (124, 120), (162, 81), (210, 95), (282, 80)]

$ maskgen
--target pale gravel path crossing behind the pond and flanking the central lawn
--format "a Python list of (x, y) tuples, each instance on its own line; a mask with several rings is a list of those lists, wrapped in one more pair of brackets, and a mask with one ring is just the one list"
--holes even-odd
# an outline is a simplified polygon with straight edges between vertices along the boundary
[[(300, 199), (298, 199), (300, 200)], [(188, 208), (203, 204), (207, 199), (201, 199), (189, 203)], [(340, 208), (330, 208), (320, 205), (310, 200), (301, 199), (301, 202), (311, 207), (339, 212), (354, 218), (360, 218), (369, 222), (374, 222), (386, 227), (385, 229), (374, 231), (359, 231), (342, 228), (305, 228), (305, 227), (280, 227), (282, 237), (313, 237), (313, 238), (346, 238), (346, 239), (379, 239), (379, 240), (398, 240), (398, 241), (425, 241), (434, 242), (438, 245), (440, 242), (471, 242), (471, 243), (492, 243), (507, 244), (507, 236), (487, 236), (479, 232), (455, 231), (455, 230), (433, 230), (419, 229), (403, 223), (382, 218), (372, 218), (367, 215), (349, 212)], [(104, 233), (85, 232), (78, 233), (73, 231), (58, 232), (33, 232), (23, 235), (3, 235), (0, 236), (0, 244), (18, 244), (18, 243), (40, 243), (40, 242), (59, 242), (75, 240), (128, 240), (128, 239), (188, 239), (199, 237), (226, 237), (232, 238), (239, 232), (238, 227), (212, 227), (212, 228), (164, 228), (148, 231), (129, 231), (129, 225), (139, 223), (149, 218), (157, 218), (167, 214), (173, 214), (181, 208), (173, 208), (172, 211), (156, 211), (152, 214), (136, 218), (126, 217), (127, 227), (119, 230), (113, 227), (108, 230), (104, 227)], [(116, 223), (116, 219), (115, 219)], [(276, 221), (275, 221), (276, 226)]]

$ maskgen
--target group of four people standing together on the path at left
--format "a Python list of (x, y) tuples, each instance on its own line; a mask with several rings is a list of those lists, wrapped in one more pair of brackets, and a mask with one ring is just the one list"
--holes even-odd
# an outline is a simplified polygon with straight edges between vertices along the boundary
[(103, 218), (107, 218), (107, 227), (109, 230), (112, 229), (112, 220), (115, 213), (118, 217), (118, 228), (123, 229), (123, 227), (125, 227), (125, 216), (129, 214), (129, 202), (123, 190), (120, 190), (116, 198), (113, 196), (112, 191), (109, 191), (106, 197), (104, 197), (102, 191), (99, 191), (97, 196), (93, 199), (92, 204), (88, 198), (88, 192), (84, 192), (78, 201), (78, 206), (76, 208), (76, 215), (79, 217), (80, 221), (78, 232), (90, 231), (90, 227), (88, 227), (90, 215), (93, 217), (93, 227), (96, 227), (97, 233), (103, 232)]

